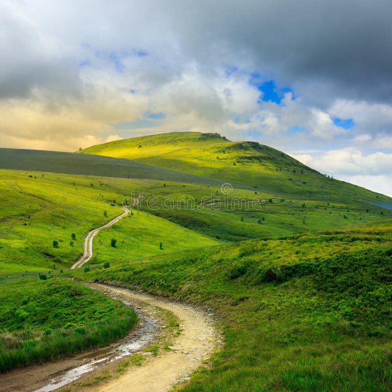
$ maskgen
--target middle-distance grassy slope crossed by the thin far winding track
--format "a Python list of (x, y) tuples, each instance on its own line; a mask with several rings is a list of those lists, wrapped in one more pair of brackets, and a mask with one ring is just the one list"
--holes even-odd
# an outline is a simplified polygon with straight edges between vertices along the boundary
[[(69, 267), (82, 253), (85, 233), (120, 215), (124, 196), (140, 193), (141, 211), (95, 238), (96, 262), (392, 218), (390, 210), (360, 203), (286, 200), (243, 189), (226, 195), (211, 185), (157, 180), (0, 170), (0, 272)], [(236, 199), (244, 203), (231, 203)], [(118, 241), (116, 248), (110, 246), (112, 238)]]

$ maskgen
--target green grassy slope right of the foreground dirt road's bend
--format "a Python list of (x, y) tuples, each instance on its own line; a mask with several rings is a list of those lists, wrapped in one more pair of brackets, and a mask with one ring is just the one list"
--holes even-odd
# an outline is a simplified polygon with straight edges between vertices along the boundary
[(73, 271), (208, 304), (225, 345), (181, 391), (390, 391), (392, 221)]

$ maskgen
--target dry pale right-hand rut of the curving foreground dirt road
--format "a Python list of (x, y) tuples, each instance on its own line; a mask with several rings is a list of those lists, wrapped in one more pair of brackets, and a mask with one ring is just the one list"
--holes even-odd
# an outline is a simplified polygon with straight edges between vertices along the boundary
[[(96, 285), (93, 287), (98, 288)], [(130, 368), (119, 379), (110, 379), (107, 384), (92, 388), (94, 392), (168, 391), (174, 384), (188, 380), (190, 374), (207, 360), (217, 347), (219, 338), (213, 326), (212, 314), (207, 316), (191, 306), (145, 294), (134, 294), (126, 289), (106, 286), (103, 292), (115, 294), (119, 299), (131, 303), (137, 301), (145, 306), (173, 312), (180, 319), (182, 332), (170, 346), (170, 351), (157, 357), (149, 357), (146, 365)]]

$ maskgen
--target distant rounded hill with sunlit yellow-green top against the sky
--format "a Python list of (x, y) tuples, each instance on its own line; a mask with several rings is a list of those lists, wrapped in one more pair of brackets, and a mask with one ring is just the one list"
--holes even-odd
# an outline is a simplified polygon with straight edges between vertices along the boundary
[(80, 151), (244, 184), (286, 197), (357, 202), (389, 201), (303, 165), (256, 142), (230, 142), (217, 134), (172, 132), (92, 146)]

